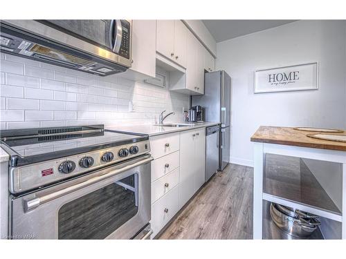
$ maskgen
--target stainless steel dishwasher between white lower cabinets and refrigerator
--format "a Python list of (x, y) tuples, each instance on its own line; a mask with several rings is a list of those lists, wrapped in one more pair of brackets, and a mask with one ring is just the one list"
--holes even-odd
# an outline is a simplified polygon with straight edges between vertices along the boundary
[(206, 182), (219, 169), (219, 132), (219, 125), (206, 128)]

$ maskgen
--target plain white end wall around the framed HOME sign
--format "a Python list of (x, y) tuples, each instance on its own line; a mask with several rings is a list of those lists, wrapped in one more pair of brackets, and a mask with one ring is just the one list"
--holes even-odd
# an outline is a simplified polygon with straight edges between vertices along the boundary
[[(260, 125), (346, 128), (346, 22), (296, 21), (217, 44), (232, 77), (231, 161), (253, 164)], [(318, 90), (253, 94), (254, 70), (320, 62)]]

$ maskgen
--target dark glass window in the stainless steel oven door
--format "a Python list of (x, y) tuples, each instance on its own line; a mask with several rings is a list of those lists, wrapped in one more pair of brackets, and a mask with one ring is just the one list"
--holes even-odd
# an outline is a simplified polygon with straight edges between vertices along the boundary
[(104, 186), (59, 210), (59, 239), (104, 239), (138, 212), (138, 174)]

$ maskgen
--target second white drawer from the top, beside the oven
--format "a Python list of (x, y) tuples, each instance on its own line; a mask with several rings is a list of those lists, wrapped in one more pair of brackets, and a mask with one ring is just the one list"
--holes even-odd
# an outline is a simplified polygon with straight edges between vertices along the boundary
[(152, 161), (152, 182), (179, 167), (179, 151)]

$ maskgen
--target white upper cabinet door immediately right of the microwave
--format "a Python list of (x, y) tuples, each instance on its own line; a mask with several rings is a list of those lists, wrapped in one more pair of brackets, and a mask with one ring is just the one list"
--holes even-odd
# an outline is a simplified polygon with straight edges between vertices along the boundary
[(131, 70), (155, 77), (155, 20), (132, 20), (132, 60)]

